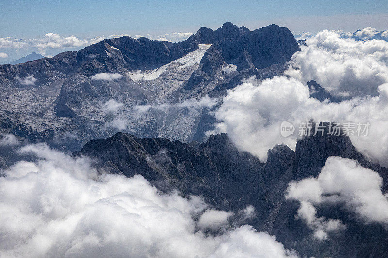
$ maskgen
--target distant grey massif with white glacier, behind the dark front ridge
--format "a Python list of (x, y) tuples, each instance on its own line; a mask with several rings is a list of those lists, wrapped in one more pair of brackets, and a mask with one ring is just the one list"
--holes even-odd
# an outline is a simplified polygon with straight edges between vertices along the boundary
[[(206, 95), (216, 99), (250, 76), (281, 75), (298, 50), (287, 28), (250, 31), (226, 22), (178, 43), (125, 36), (53, 58), (0, 65), (0, 129), (71, 151), (118, 131), (204, 141), (214, 121), (211, 107), (200, 102), (188, 112), (174, 104), (198, 103)], [(101, 73), (115, 76), (93, 77)], [(111, 99), (122, 104), (117, 112), (104, 109)], [(155, 108), (140, 114), (138, 106)]]

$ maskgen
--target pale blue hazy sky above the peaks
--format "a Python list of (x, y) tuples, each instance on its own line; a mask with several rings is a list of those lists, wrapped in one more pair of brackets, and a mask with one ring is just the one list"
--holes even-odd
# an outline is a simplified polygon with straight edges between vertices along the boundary
[[(0, 1), (0, 38), (17, 39), (39, 39), (50, 32), (81, 38), (195, 33), (200, 26), (216, 29), (225, 21), (249, 29), (275, 23), (293, 32), (355, 31), (368, 26), (386, 30), (387, 20), (387, 0)], [(0, 52), (8, 53), (8, 59), (13, 59), (24, 55), (27, 49), (1, 48)]]

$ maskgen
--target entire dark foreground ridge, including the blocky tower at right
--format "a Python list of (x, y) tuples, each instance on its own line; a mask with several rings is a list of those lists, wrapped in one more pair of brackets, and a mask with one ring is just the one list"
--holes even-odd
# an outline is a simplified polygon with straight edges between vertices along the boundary
[(289, 182), (316, 176), (329, 156), (355, 159), (377, 171), (386, 189), (387, 169), (357, 152), (349, 137), (311, 135), (297, 142), (296, 152), (275, 145), (266, 163), (237, 150), (226, 134), (212, 135), (195, 146), (117, 133), (88, 142), (74, 155), (96, 158), (98, 167), (112, 173), (141, 174), (162, 191), (177, 188), (186, 196), (201, 195), (219, 209), (236, 212), (253, 205), (258, 216), (248, 223), (306, 256), (383, 257), (387, 253), (388, 234), (381, 225), (361, 225), (339, 208), (322, 207), (317, 215), (340, 219), (348, 228), (325, 242), (315, 241), (310, 229), (295, 218), (297, 203), (284, 198)]

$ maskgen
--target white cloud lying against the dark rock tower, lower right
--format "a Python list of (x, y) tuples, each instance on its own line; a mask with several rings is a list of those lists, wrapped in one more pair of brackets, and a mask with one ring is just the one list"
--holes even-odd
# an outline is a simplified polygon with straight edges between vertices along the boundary
[(382, 184), (377, 172), (355, 160), (329, 157), (318, 177), (291, 182), (286, 198), (300, 202), (298, 218), (314, 230), (314, 236), (325, 239), (327, 233), (345, 226), (339, 220), (316, 217), (318, 206), (339, 206), (366, 224), (387, 225), (388, 199), (382, 193)]

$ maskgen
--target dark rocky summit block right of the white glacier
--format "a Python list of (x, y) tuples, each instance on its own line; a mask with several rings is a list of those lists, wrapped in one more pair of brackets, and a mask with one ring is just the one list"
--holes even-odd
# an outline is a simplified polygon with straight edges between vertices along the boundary
[[(235, 80), (240, 82), (242, 77), (261, 78), (258, 69), (284, 63), (300, 50), (291, 31), (275, 24), (249, 31), (245, 27), (239, 28), (226, 22), (213, 33), (201, 28), (195, 36), (197, 35), (206, 42), (211, 42), (211, 39), (213, 42), (203, 56), (199, 68), (186, 83), (184, 87), (186, 90), (193, 87), (201, 88), (204, 84), (210, 83), (221, 74), (224, 62), (236, 65), (238, 72), (229, 76), (240, 77)], [(230, 88), (232, 87), (229, 86)]]

